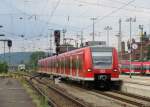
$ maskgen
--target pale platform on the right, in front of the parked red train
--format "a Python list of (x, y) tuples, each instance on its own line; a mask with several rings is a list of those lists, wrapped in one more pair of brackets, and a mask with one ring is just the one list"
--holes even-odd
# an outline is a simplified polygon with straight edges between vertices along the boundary
[(150, 97), (150, 77), (120, 75), (122, 80), (121, 90), (126, 93), (132, 93), (145, 97)]

